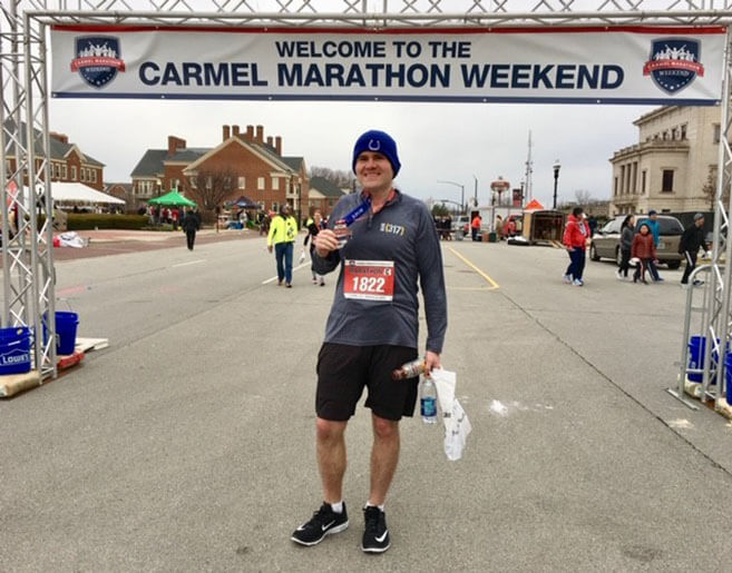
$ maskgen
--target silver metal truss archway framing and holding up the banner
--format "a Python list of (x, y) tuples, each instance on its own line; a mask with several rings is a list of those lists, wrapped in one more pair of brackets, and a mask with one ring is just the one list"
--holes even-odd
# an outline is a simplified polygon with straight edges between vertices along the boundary
[[(506, 28), (729, 26), (732, 0), (4, 0), (0, 4), (0, 161), (2, 201), (2, 326), (28, 325), (39, 332), (43, 316), (55, 333), (53, 257), (49, 180), (47, 86), (48, 27), (59, 24), (155, 24), (159, 27), (345, 27)], [(712, 296), (704, 332), (712, 340), (730, 334), (730, 267), (725, 240), (730, 205), (723, 189), (732, 181), (730, 136), (730, 36), (722, 98), (723, 134), (719, 154)], [(23, 182), (26, 185), (23, 185)], [(35, 217), (33, 214), (45, 217)], [(10, 233), (9, 218), (17, 229)], [(56, 374), (53, 336), (36, 337), (36, 364), (45, 376)], [(720, 343), (722, 344), (722, 343)], [(723, 364), (721, 368), (723, 368)], [(709, 368), (706, 368), (709, 371)], [(718, 373), (719, 374), (719, 373)], [(723, 373), (721, 373), (723, 375)]]

